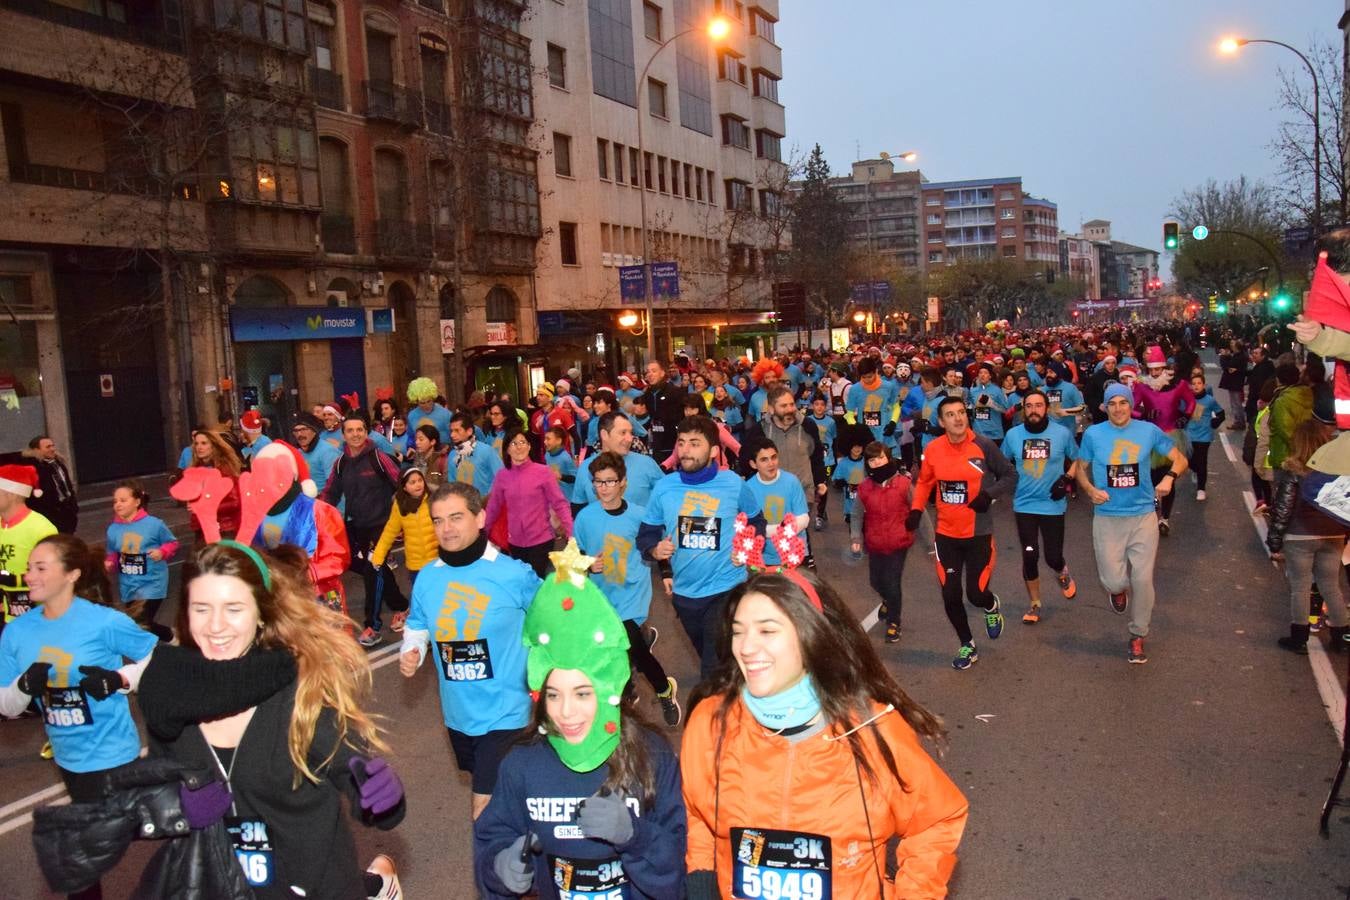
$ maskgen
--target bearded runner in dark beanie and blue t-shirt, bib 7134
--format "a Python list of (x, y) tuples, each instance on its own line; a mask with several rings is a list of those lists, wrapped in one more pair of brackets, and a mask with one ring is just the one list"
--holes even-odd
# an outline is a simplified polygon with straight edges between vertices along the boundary
[[(1041, 621), (1040, 541), (1045, 541), (1045, 561), (1054, 571), (1065, 599), (1073, 599), (1077, 584), (1064, 560), (1064, 510), (1079, 455), (1073, 433), (1049, 421), (1049, 399), (1035, 389), (1022, 398), (1025, 421), (1003, 437), (1003, 455), (1018, 468), (1013, 494), (1013, 517), (1022, 544), (1022, 580), (1030, 606), (1022, 617), (1026, 625)], [(1038, 540), (1040, 538), (1040, 540)]]

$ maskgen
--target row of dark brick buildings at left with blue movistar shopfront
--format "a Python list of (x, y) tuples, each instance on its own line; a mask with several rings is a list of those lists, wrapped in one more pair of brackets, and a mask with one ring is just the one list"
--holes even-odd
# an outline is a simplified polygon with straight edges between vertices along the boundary
[(97, 480), (246, 407), (518, 395), (526, 5), (444, 3), (0, 3), (0, 453), (46, 432)]

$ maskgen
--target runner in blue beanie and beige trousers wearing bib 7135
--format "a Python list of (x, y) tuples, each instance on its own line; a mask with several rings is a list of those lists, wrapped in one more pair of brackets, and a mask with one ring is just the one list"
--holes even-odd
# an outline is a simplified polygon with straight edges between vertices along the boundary
[[(1187, 470), (1185, 456), (1157, 425), (1131, 418), (1134, 394), (1120, 383), (1106, 387), (1107, 421), (1083, 432), (1079, 487), (1096, 506), (1092, 549), (1111, 609), (1130, 610), (1130, 663), (1148, 663), (1143, 638), (1153, 619), (1153, 563), (1158, 555), (1156, 498), (1172, 491)], [(1149, 455), (1166, 456), (1172, 468), (1157, 487)], [(1100, 487), (1098, 487), (1100, 484)], [(1133, 600), (1133, 602), (1131, 602)]]

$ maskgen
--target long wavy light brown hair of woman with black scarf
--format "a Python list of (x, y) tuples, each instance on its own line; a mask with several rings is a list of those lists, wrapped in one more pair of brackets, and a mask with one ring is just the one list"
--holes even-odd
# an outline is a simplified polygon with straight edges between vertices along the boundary
[[(370, 700), (370, 661), (347, 633), (346, 617), (315, 600), (308, 579), (309, 560), (300, 548), (281, 546), (259, 552), (267, 563), (271, 590), (263, 584), (258, 565), (242, 551), (220, 544), (201, 546), (184, 572), (184, 584), (198, 575), (230, 575), (248, 586), (258, 604), (258, 644), (285, 648), (300, 665), (296, 707), (290, 714), (288, 745), (296, 766), (296, 787), (302, 779), (319, 783), (315, 769), (325, 768), (346, 743), (358, 753), (385, 752), (375, 719), (363, 704)], [(178, 634), (186, 646), (196, 646), (188, 627), (186, 591), (178, 607)], [(317, 766), (309, 765), (315, 726), (324, 708), (332, 708), (338, 743)]]

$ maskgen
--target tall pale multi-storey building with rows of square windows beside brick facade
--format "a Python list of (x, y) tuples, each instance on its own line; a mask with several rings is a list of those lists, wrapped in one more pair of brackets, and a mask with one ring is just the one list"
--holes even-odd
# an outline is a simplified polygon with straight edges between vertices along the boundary
[[(655, 301), (660, 355), (711, 351), (763, 324), (787, 240), (778, 0), (576, 0), (532, 13), (547, 73), (536, 297), (551, 362), (640, 367), (644, 304), (625, 300), (620, 267), (644, 262), (644, 228), (651, 262), (679, 266), (679, 297)], [(705, 31), (714, 15), (730, 24), (721, 42)]]

